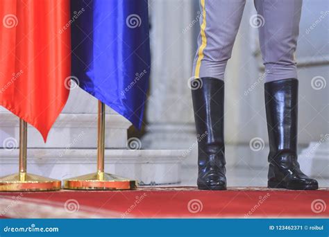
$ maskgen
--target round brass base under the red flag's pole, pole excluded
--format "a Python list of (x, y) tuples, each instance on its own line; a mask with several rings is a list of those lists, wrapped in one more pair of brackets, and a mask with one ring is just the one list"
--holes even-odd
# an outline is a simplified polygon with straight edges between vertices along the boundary
[(60, 188), (60, 180), (29, 173), (0, 177), (1, 192), (58, 191)]

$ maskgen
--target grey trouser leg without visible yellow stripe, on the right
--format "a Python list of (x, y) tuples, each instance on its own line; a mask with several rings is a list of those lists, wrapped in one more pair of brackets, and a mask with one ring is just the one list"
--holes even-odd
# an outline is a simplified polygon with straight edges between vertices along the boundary
[(297, 78), (294, 53), (302, 0), (255, 0), (266, 81)]

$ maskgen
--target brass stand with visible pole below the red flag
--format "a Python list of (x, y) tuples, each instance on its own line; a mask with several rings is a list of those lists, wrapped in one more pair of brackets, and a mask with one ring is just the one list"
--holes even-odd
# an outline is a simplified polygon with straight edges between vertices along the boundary
[(56, 191), (61, 182), (26, 173), (27, 123), (19, 120), (19, 173), (0, 177), (0, 191)]

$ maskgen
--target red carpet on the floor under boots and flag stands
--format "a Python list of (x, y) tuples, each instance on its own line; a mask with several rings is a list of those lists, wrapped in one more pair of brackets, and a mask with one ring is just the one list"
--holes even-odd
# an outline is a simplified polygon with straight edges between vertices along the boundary
[(284, 191), (193, 187), (137, 191), (0, 193), (2, 218), (287, 218), (329, 217), (329, 189)]

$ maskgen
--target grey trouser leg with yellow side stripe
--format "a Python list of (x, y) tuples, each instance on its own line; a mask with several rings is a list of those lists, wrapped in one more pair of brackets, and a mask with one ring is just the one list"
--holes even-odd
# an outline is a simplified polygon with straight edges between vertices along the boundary
[(194, 78), (224, 79), (246, 0), (200, 0), (198, 49)]

